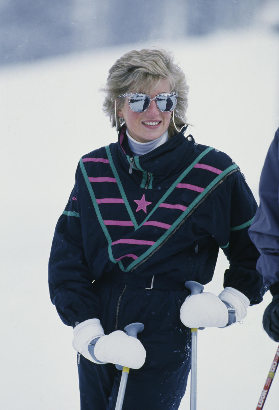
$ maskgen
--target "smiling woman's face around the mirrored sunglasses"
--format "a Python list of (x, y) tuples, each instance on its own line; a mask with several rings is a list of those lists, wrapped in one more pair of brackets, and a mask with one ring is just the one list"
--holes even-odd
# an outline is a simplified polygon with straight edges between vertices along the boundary
[[(129, 90), (131, 92), (141, 92), (150, 95), (151, 98), (159, 93), (169, 93), (170, 84), (162, 79), (158, 86), (150, 90)], [(150, 91), (150, 92), (149, 92)], [(128, 97), (118, 115), (124, 117), (127, 130), (131, 137), (139, 142), (153, 141), (163, 135), (170, 125), (172, 112), (162, 112), (157, 108), (155, 100), (151, 101), (150, 107), (145, 112), (133, 112), (128, 105)]]

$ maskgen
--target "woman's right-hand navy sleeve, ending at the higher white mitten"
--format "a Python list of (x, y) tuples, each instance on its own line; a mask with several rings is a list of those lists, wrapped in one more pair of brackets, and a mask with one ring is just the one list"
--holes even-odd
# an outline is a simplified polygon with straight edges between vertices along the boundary
[[(217, 203), (219, 209), (215, 213), (222, 214), (222, 223), (215, 223), (215, 240), (229, 260), (224, 287), (239, 290), (249, 298), (250, 305), (254, 305), (263, 300), (266, 291), (262, 277), (256, 271), (259, 252), (248, 235), (257, 209), (256, 200), (240, 172), (234, 173), (233, 178), (222, 185), (220, 203)], [(222, 198), (225, 198), (224, 205)]]

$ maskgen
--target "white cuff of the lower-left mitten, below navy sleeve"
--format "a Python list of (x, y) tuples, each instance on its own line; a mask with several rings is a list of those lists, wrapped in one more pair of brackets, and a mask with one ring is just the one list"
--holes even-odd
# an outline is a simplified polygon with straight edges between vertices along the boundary
[(91, 356), (88, 351), (88, 345), (93, 339), (101, 336), (104, 336), (104, 330), (101, 326), (100, 320), (85, 320), (74, 328), (73, 348), (81, 353), (86, 359), (91, 360), (91, 362), (100, 363), (99, 361), (94, 360)]

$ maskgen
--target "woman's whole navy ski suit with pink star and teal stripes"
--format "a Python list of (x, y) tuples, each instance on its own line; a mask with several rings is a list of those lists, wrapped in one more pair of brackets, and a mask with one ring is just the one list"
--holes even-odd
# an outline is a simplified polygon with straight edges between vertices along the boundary
[[(185, 132), (185, 128), (183, 130)], [(123, 410), (178, 409), (190, 370), (191, 332), (179, 318), (186, 280), (211, 281), (219, 248), (224, 286), (262, 300), (258, 251), (247, 229), (256, 202), (225, 153), (180, 132), (133, 156), (117, 143), (84, 155), (51, 249), (49, 286), (62, 321), (99, 318), (104, 332), (142, 322), (147, 352), (130, 371)], [(120, 373), (80, 357), (82, 410), (113, 409)]]

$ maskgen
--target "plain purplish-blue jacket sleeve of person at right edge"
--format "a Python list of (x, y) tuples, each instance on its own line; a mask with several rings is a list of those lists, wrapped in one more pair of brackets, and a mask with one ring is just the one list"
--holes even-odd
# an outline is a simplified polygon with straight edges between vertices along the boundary
[[(261, 256), (257, 270), (270, 286), (279, 282), (279, 128), (270, 144), (259, 183), (260, 205), (249, 235)], [(277, 284), (279, 285), (279, 284)], [(279, 293), (279, 286), (278, 293)]]

